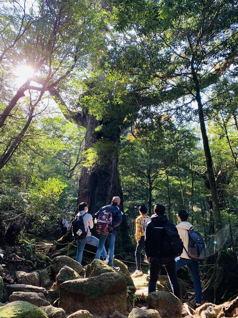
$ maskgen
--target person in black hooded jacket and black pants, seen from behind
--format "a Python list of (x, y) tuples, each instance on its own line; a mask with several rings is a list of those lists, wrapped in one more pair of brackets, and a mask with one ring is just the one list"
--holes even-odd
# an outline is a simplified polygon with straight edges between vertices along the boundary
[(175, 227), (175, 225), (164, 215), (165, 207), (162, 204), (155, 204), (154, 213), (155, 215), (151, 217), (151, 221), (147, 223), (145, 230), (145, 252), (150, 264), (148, 294), (156, 291), (156, 283), (161, 268), (164, 266), (169, 276), (173, 293), (182, 301), (181, 287), (176, 274), (175, 259), (169, 254), (161, 256), (160, 248), (163, 242), (164, 226)]

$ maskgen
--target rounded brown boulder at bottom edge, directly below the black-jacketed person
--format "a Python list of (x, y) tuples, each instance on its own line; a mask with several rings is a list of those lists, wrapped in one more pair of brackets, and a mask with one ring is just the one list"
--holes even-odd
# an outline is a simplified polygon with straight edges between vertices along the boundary
[(182, 302), (172, 293), (152, 292), (146, 297), (146, 303), (162, 318), (182, 318)]

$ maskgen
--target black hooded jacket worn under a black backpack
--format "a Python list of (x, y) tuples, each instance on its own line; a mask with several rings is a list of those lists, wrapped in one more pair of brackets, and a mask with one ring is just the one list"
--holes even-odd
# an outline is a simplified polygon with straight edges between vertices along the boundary
[(175, 226), (166, 215), (153, 215), (151, 221), (145, 229), (145, 253), (147, 257), (161, 260), (161, 264), (166, 265), (174, 260), (172, 257), (160, 257), (160, 246), (162, 246), (164, 227), (166, 225)]

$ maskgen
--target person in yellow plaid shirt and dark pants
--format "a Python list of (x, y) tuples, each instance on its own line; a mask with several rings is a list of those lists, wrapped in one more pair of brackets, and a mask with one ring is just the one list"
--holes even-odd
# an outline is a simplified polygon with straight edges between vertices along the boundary
[(136, 219), (136, 271), (132, 274), (132, 277), (142, 275), (141, 271), (141, 252), (145, 248), (145, 226), (150, 221), (150, 217), (146, 214), (147, 208), (145, 205), (139, 206), (140, 216)]

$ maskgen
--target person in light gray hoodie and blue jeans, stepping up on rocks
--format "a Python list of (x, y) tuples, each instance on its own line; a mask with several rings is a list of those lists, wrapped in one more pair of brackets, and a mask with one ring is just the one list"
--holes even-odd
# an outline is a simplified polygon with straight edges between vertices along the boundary
[[(99, 245), (99, 239), (96, 237), (92, 236), (90, 229), (93, 228), (94, 222), (91, 214), (88, 213), (88, 204), (85, 202), (82, 202), (78, 205), (78, 214), (76, 214), (75, 218), (80, 217), (81, 215), (84, 215), (83, 217), (83, 224), (85, 231), (87, 232), (87, 236), (85, 239), (77, 239), (77, 255), (76, 255), (76, 261), (81, 264), (82, 258), (83, 258), (83, 249), (85, 244), (90, 244), (98, 247)], [(102, 257), (103, 257), (103, 262), (107, 264), (109, 262), (109, 256), (106, 252), (105, 247), (103, 246), (102, 248)]]

